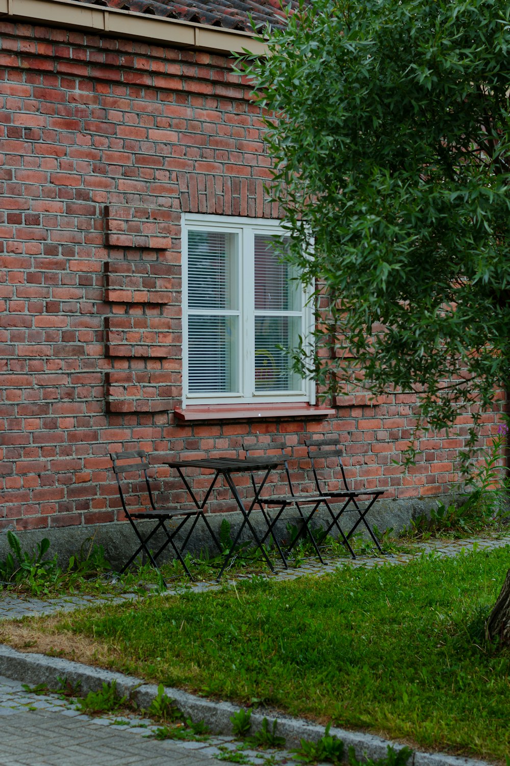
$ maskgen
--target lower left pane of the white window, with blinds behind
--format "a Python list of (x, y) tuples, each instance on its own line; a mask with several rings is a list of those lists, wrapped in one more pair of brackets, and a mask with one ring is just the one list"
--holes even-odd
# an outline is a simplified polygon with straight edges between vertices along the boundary
[(237, 316), (189, 317), (190, 392), (239, 391), (236, 363), (238, 328)]

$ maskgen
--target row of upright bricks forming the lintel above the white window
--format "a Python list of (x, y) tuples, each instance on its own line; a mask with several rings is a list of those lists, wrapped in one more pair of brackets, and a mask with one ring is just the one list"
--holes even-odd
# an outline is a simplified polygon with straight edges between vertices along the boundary
[(280, 218), (276, 202), (268, 201), (265, 180), (229, 175), (179, 172), (183, 213)]

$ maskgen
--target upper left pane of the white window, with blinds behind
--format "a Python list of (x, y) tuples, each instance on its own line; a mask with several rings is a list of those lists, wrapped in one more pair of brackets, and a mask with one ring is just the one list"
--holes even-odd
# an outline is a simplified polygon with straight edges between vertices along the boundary
[(188, 234), (188, 306), (237, 309), (236, 235), (216, 231)]

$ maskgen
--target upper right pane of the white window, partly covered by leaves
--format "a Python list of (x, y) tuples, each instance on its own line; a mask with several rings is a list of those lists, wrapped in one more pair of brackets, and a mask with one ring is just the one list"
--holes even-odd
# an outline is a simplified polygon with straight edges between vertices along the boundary
[(300, 283), (292, 280), (295, 270), (280, 263), (280, 237), (255, 234), (255, 309), (300, 311)]

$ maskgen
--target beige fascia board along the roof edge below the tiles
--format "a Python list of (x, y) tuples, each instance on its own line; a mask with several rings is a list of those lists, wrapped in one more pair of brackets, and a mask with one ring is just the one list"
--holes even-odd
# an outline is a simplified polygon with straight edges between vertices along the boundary
[(267, 49), (249, 32), (219, 29), (190, 21), (147, 16), (71, 0), (0, 0), (0, 19), (80, 29), (158, 45), (194, 48), (229, 54), (248, 50), (265, 54)]

